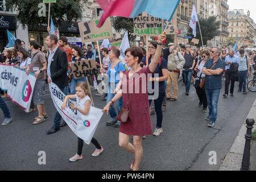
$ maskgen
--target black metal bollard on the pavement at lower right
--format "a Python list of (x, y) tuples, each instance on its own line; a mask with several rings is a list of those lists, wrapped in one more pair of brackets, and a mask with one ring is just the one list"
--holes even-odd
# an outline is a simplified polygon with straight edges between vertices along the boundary
[(254, 119), (246, 119), (247, 124), (247, 131), (245, 134), (245, 149), (243, 150), (243, 160), (242, 160), (242, 167), (240, 168), (241, 171), (249, 171), (250, 166), (250, 150), (251, 150), (251, 130), (253, 129), (255, 121)]

